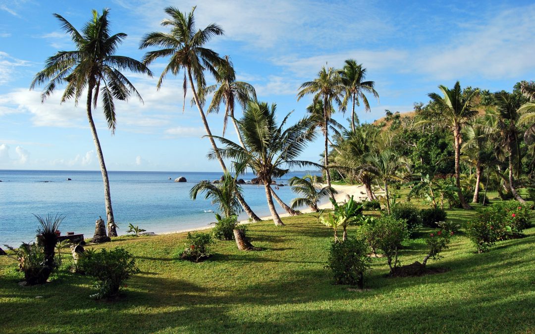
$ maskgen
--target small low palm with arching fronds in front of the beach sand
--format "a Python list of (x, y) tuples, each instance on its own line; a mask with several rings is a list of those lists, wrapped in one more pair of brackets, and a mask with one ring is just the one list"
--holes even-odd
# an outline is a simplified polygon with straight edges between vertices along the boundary
[(333, 196), (338, 193), (332, 187), (320, 188), (315, 182), (316, 176), (307, 174), (305, 176), (294, 176), (289, 180), (289, 184), (292, 186), (292, 190), (303, 197), (292, 199), (292, 208), (299, 206), (309, 206), (312, 211), (318, 212), (318, 203), (325, 197)]

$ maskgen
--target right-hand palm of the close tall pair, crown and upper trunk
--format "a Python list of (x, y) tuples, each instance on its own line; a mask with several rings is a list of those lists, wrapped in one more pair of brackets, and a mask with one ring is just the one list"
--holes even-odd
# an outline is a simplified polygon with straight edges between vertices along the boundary
[(338, 70), (338, 73), (342, 78), (343, 92), (345, 92), (342, 106), (345, 108), (349, 99), (351, 99), (351, 102), (353, 103), (351, 108), (351, 130), (355, 131), (355, 105), (361, 105), (358, 99), (362, 99), (364, 110), (370, 111), (370, 103), (368, 102), (368, 98), (364, 95), (364, 92), (372, 94), (373, 97), (377, 99), (377, 102), (379, 102), (379, 94), (377, 94), (377, 91), (374, 88), (375, 82), (363, 81), (366, 77), (366, 69), (362, 67), (362, 64), (357, 64), (354, 59), (347, 59), (345, 63), (346, 65)]

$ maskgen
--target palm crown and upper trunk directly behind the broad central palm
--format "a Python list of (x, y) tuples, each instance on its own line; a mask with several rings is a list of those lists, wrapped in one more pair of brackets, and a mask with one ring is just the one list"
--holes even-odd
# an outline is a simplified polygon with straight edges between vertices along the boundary
[(243, 81), (236, 81), (236, 74), (234, 67), (228, 56), (225, 56), (223, 64), (216, 66), (216, 84), (208, 86), (202, 91), (202, 97), (213, 93), (212, 100), (208, 106), (207, 113), (219, 112), (219, 105), (225, 104), (225, 116), (223, 118), (223, 137), (225, 136), (225, 130), (227, 127), (228, 116), (230, 116), (236, 135), (243, 146), (243, 141), (238, 131), (238, 126), (234, 120), (234, 106), (236, 102), (245, 108), (249, 100), (256, 100), (255, 88)]

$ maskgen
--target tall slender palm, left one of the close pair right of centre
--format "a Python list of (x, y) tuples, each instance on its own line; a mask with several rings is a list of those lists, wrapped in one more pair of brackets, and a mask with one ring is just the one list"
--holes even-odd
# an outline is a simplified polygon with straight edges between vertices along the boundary
[[(323, 101), (323, 123), (328, 124), (330, 119), (330, 111), (332, 111), (333, 103), (338, 106), (342, 105), (342, 81), (340, 75), (334, 68), (325, 66), (318, 72), (318, 77), (312, 81), (304, 82), (300, 91), (297, 93), (297, 100), (299, 101), (303, 96), (313, 94), (314, 102), (318, 100)], [(328, 187), (331, 187), (331, 174), (327, 166), (328, 160), (328, 127), (323, 128), (323, 134), (325, 137), (325, 150), (324, 150), (324, 168), (327, 179)]]

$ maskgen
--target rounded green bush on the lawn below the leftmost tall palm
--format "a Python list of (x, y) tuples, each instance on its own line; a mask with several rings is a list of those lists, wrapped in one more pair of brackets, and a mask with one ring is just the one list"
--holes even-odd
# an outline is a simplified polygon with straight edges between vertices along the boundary
[(119, 289), (126, 286), (124, 283), (130, 275), (139, 272), (132, 254), (119, 247), (110, 251), (103, 248), (100, 252), (84, 252), (77, 266), (86, 275), (97, 279), (98, 292), (91, 295), (96, 299), (116, 296)]

